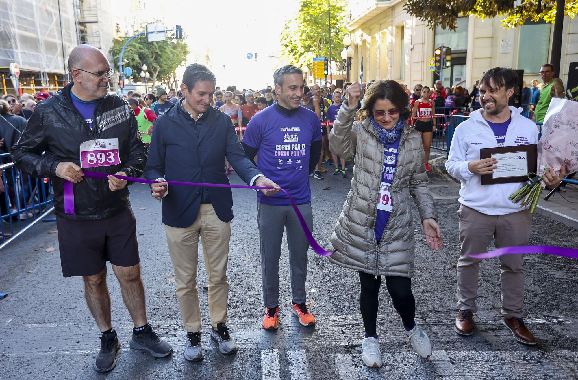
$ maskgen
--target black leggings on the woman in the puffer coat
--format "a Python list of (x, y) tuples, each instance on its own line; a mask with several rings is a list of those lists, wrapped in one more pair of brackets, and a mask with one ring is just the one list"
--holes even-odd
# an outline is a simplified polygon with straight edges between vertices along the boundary
[[(377, 309), (379, 307), (379, 288), (381, 276), (360, 272), (361, 294), (360, 309), (365, 333), (376, 335)], [(413, 327), (416, 317), (416, 299), (412, 293), (412, 279), (409, 277), (386, 276), (387, 291), (390, 292), (395, 310), (401, 316), (404, 326)]]

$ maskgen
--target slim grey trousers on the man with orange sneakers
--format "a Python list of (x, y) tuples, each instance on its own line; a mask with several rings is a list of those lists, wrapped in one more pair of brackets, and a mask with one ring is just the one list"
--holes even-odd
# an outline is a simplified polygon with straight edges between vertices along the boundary
[[(309, 230), (313, 227), (311, 204), (298, 205)], [(291, 294), (293, 302), (306, 300), (307, 250), (309, 242), (292, 206), (269, 206), (257, 203), (257, 225), (261, 247), (261, 275), (263, 279), (263, 304), (279, 306), (279, 259), (283, 229), (287, 231)]]

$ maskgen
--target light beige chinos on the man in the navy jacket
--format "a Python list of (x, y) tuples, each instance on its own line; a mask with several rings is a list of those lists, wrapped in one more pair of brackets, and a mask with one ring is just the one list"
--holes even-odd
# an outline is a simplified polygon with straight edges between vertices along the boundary
[(199, 236), (203, 243), (205, 270), (209, 277), (209, 314), (213, 328), (227, 322), (227, 260), (231, 222), (218, 219), (212, 204), (201, 204), (197, 220), (190, 227), (165, 225), (166, 241), (175, 268), (176, 295), (187, 332), (201, 330), (201, 307), (197, 290)]

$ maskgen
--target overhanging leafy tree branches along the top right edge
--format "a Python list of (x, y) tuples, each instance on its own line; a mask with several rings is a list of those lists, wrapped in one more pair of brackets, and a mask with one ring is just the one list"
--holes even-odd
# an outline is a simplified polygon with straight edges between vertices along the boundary
[[(538, 2), (540, 2), (540, 9)], [(554, 23), (557, 0), (525, 0), (514, 7), (514, 0), (407, 0), (405, 9), (420, 18), (432, 28), (436, 25), (455, 31), (456, 20), (460, 14), (474, 15), (479, 18), (505, 16), (503, 28), (517, 28), (526, 20)], [(565, 0), (566, 16), (572, 18), (578, 14), (578, 0)]]

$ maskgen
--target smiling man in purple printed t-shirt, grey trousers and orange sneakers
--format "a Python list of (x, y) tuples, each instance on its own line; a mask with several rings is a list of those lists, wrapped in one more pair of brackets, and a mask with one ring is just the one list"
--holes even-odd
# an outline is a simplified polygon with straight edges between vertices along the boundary
[[(277, 103), (254, 115), (243, 137), (247, 156), (259, 155), (257, 167), (295, 199), (307, 226), (312, 229), (313, 210), (309, 173), (321, 155), (321, 123), (315, 112), (299, 107), (303, 97), (303, 72), (283, 66), (274, 74)], [(263, 328), (277, 329), (279, 319), (279, 259), (283, 229), (287, 231), (291, 270), (292, 313), (303, 326), (315, 324), (305, 306), (305, 278), (309, 242), (285, 193), (257, 195), (257, 225), (261, 247), (263, 299), (267, 308)]]

